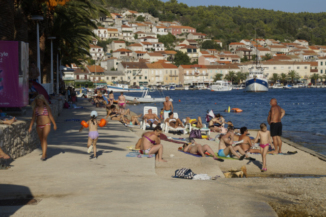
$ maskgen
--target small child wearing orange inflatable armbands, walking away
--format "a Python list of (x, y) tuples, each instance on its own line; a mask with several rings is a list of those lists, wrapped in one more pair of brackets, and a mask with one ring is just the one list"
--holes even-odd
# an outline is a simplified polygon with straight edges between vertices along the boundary
[[(98, 139), (98, 131), (97, 127), (100, 121), (96, 120), (97, 118), (97, 112), (92, 111), (91, 112), (91, 120), (87, 121), (86, 123), (88, 124), (89, 127), (89, 133), (88, 133), (88, 141), (87, 141), (87, 153), (91, 153), (92, 149), (94, 148), (94, 159), (96, 159), (96, 143)], [(79, 132), (81, 132), (85, 127), (82, 126), (79, 129)]]

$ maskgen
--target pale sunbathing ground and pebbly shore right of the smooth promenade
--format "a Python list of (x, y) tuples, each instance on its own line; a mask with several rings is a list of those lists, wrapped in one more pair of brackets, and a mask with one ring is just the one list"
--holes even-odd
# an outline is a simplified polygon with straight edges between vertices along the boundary
[[(144, 132), (131, 128), (132, 133), (141, 136)], [(148, 131), (148, 130), (146, 130)], [(256, 137), (258, 130), (249, 133)], [(165, 133), (167, 137), (185, 138), (186, 135)], [(214, 138), (214, 132), (210, 132)], [(195, 139), (197, 143), (208, 144), (215, 152), (218, 144), (205, 139)], [(221, 178), (217, 181), (232, 186), (239, 191), (248, 191), (257, 197), (263, 196), (265, 201), (279, 216), (324, 216), (326, 214), (326, 161), (325, 156), (313, 150), (282, 138), (282, 152), (297, 151), (294, 155), (267, 155), (267, 172), (260, 172), (261, 155), (248, 154), (256, 158), (249, 160), (229, 160), (218, 162), (211, 157), (194, 157), (177, 151), (182, 144), (162, 141), (163, 157), (168, 162), (155, 162), (155, 173), (163, 179), (171, 179), (171, 174), (180, 168), (190, 168), (194, 173), (207, 173), (214, 177), (218, 170), (227, 172), (229, 169), (247, 167), (248, 178)], [(174, 155), (174, 156), (172, 156)], [(322, 159), (321, 159), (322, 158)], [(223, 174), (223, 173), (222, 173)], [(224, 177), (224, 176), (222, 176)], [(215, 180), (211, 180), (215, 181)]]

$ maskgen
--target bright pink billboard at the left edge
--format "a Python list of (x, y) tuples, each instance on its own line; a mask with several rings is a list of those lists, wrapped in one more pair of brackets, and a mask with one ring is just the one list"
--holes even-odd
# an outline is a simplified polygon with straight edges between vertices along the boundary
[(0, 107), (28, 104), (27, 64), (28, 44), (0, 41)]

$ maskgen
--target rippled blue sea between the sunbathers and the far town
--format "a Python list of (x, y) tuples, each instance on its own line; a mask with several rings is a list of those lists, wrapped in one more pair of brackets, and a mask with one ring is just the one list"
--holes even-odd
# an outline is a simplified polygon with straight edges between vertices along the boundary
[[(263, 122), (267, 124), (269, 101), (271, 98), (276, 98), (278, 104), (285, 110), (282, 119), (283, 137), (326, 155), (326, 101), (323, 99), (326, 89), (324, 88), (269, 89), (265, 93), (246, 93), (243, 90), (226, 92), (175, 90), (163, 91), (163, 93), (174, 100), (174, 112), (177, 112), (180, 118), (200, 116), (205, 122), (207, 110), (213, 110), (214, 114), (223, 114), (225, 120), (232, 121), (235, 127), (246, 126), (249, 129), (259, 129), (259, 125)], [(125, 95), (141, 96), (141, 93)], [(151, 92), (150, 95), (160, 96), (157, 91)], [(137, 106), (129, 105), (129, 108), (140, 114), (143, 113), (144, 106), (157, 106), (160, 111), (163, 104), (146, 103)], [(224, 110), (228, 106), (240, 108), (243, 112), (225, 113)]]

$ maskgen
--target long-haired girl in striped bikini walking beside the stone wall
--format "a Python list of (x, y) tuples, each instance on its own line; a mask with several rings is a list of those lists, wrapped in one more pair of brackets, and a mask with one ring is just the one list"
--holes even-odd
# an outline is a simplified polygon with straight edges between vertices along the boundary
[(39, 94), (35, 97), (34, 101), (32, 102), (32, 107), (33, 117), (31, 120), (29, 132), (32, 131), (32, 127), (36, 119), (36, 131), (39, 135), (43, 151), (41, 160), (46, 160), (47, 136), (51, 130), (51, 122), (53, 124), (54, 130), (57, 129), (57, 125), (55, 119), (52, 116), (51, 108), (42, 94)]

